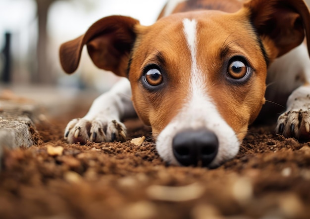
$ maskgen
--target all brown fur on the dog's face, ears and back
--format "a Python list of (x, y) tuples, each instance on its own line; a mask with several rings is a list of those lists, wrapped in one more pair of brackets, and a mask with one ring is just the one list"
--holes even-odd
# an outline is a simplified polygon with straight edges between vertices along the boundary
[[(209, 10), (202, 10), (206, 8)], [(150, 27), (141, 26), (128, 17), (103, 18), (85, 35), (61, 46), (61, 64), (66, 72), (75, 71), (82, 46), (87, 44), (99, 68), (125, 76), (128, 65), (135, 109), (157, 134), (186, 101), (191, 56), (182, 20), (196, 19), (197, 57), (206, 74), (206, 90), (214, 97), (221, 116), (242, 140), (265, 101), (269, 62), (301, 44), (304, 29), (307, 37), (310, 36), (310, 15), (305, 3), (302, 0), (252, 0), (242, 7), (239, 0), (188, 0), (177, 5), (173, 12), (175, 14), (168, 17), (162, 17), (162, 12), (161, 18)], [(253, 76), (245, 84), (231, 84), (225, 79), (226, 63), (235, 55), (247, 57), (253, 68)], [(157, 91), (150, 91), (141, 83), (143, 68), (148, 64), (162, 66), (165, 71), (164, 86)]]

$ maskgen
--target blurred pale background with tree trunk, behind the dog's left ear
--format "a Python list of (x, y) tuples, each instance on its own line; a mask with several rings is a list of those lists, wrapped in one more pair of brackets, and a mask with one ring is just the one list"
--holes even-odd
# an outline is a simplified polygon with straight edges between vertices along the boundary
[(0, 0), (0, 85), (109, 89), (116, 76), (97, 69), (86, 49), (77, 72), (66, 75), (58, 60), (59, 45), (108, 15), (151, 25), (165, 1)]

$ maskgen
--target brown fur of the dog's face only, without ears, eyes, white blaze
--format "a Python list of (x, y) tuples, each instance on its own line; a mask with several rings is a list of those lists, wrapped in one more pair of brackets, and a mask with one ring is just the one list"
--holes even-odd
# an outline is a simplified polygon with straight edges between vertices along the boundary
[[(221, 16), (218, 16), (219, 14)], [(184, 97), (189, 92), (188, 82), (190, 81), (191, 58), (188, 48), (182, 46), (186, 45), (183, 32), (176, 31), (182, 28), (184, 17), (190, 17), (199, 21), (199, 35), (197, 36), (199, 39), (204, 38), (204, 36), (208, 37), (208, 40), (199, 41), (198, 47), (200, 50), (197, 54), (199, 58), (198, 64), (201, 66), (201, 70), (206, 72), (206, 89), (210, 96), (216, 96), (214, 102), (218, 106), (220, 114), (233, 130), (240, 133), (240, 139), (242, 139), (248, 124), (256, 118), (262, 105), (266, 76), (266, 64), (262, 64), (264, 63), (263, 56), (257, 52), (260, 48), (256, 41), (256, 36), (248, 31), (251, 28), (251, 24), (243, 16), (215, 11), (208, 13), (190, 12), (162, 18), (150, 27), (150, 30), (146, 31), (148, 33), (147, 36), (141, 37), (138, 45), (136, 45), (137, 49), (133, 52), (132, 66), (140, 66), (138, 63), (143, 62), (143, 65), (146, 65), (148, 63), (147, 60), (152, 60), (149, 57), (153, 56), (153, 47), (150, 50), (144, 48), (152, 40), (151, 38), (155, 34), (153, 32), (160, 29), (164, 34), (153, 40), (152, 45), (155, 51), (159, 50), (165, 54), (165, 74), (175, 74), (175, 76), (169, 77), (166, 80), (167, 85), (163, 88), (164, 90), (160, 90), (160, 93), (148, 93), (139, 83), (135, 83), (139, 81), (140, 74), (130, 74), (129, 80), (134, 82), (131, 85), (135, 107), (138, 109), (147, 107), (149, 109), (141, 111), (139, 115), (141, 118), (148, 118), (148, 124), (153, 127), (153, 131), (159, 133), (170, 122), (171, 118), (178, 113), (184, 103)], [(209, 17), (212, 17), (212, 22), (208, 20)], [(218, 19), (216, 19), (217, 17)], [(230, 26), (228, 22), (232, 20), (237, 24), (234, 27)], [(217, 35), (218, 31), (207, 33), (207, 30), (210, 29), (218, 29), (221, 35)], [(164, 39), (171, 35), (174, 35), (174, 41), (169, 41), (165, 44)], [(238, 44), (234, 43), (237, 40), (246, 46), (238, 46)], [(218, 46), (217, 41), (225, 42), (225, 44)], [(230, 47), (231, 53), (226, 54), (221, 60), (220, 50), (224, 49), (226, 45)], [(205, 51), (208, 51), (207, 54)], [(136, 57), (135, 54), (139, 54), (139, 56)], [(223, 69), (224, 63), (231, 55), (235, 54), (248, 54), (250, 57), (254, 57), (250, 60), (250, 64), (255, 69), (256, 76), (246, 86), (231, 86), (223, 78), (226, 76), (222, 74), (226, 71), (226, 69)], [(208, 60), (207, 62), (206, 59)], [(179, 63), (182, 63), (182, 65)], [(161, 65), (160, 63), (156, 64)], [(131, 72), (139, 71), (141, 72), (139, 68), (132, 68)], [(162, 95), (161, 93), (169, 93), (169, 95)], [(257, 101), (258, 99), (260, 101)]]

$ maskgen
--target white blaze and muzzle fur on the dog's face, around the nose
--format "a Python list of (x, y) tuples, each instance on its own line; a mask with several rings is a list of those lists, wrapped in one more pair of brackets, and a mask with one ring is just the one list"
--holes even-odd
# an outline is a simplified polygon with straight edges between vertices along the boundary
[(217, 166), (238, 153), (240, 142), (235, 132), (218, 113), (211, 97), (207, 95), (207, 88), (204, 84), (206, 74), (200, 70), (197, 64), (197, 21), (184, 19), (183, 26), (192, 59), (188, 102), (158, 135), (156, 149), (165, 161), (179, 164), (172, 151), (173, 137), (186, 129), (206, 128), (213, 131), (219, 141), (218, 154), (210, 164), (211, 167)]

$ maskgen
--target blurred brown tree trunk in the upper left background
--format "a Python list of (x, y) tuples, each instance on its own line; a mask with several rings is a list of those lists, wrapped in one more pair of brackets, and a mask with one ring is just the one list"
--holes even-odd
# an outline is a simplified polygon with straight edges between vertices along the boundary
[(37, 71), (32, 77), (32, 81), (37, 84), (52, 84), (54, 77), (52, 76), (51, 63), (47, 54), (48, 34), (47, 22), (48, 11), (52, 2), (55, 0), (36, 0), (39, 36), (37, 44)]

